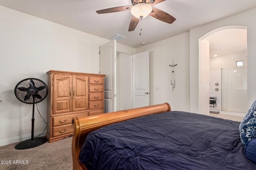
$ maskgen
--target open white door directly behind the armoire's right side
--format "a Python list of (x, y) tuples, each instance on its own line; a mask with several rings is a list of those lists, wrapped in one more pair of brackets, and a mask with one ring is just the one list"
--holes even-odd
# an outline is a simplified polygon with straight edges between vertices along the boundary
[(104, 111), (116, 111), (116, 40), (100, 46), (100, 74), (106, 74)]

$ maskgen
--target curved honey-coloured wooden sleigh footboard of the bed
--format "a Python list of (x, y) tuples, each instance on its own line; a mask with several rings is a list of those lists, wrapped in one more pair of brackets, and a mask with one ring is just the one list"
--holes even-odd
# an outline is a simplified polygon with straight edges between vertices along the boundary
[(87, 170), (87, 168), (79, 161), (79, 153), (84, 145), (86, 136), (96, 129), (125, 121), (128, 119), (151, 115), (156, 113), (163, 113), (171, 111), (171, 106), (168, 103), (158, 104), (154, 106), (139, 107), (136, 109), (128, 109), (123, 111), (116, 111), (111, 113), (105, 113), (101, 115), (93, 115), (88, 117), (72, 118), (72, 124), (74, 126), (74, 136), (72, 139), (72, 159), (73, 170)]

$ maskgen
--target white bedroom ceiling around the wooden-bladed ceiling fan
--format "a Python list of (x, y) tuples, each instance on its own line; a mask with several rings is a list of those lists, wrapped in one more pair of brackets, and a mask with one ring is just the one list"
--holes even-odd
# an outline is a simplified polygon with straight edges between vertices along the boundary
[(109, 40), (118, 33), (128, 37), (119, 43), (137, 48), (142, 46), (141, 42), (154, 43), (256, 8), (256, 0), (166, 0), (154, 7), (174, 16), (177, 19), (174, 23), (148, 16), (131, 32), (128, 32), (130, 11), (96, 13), (105, 8), (130, 6), (131, 0), (0, 0), (0, 5)]

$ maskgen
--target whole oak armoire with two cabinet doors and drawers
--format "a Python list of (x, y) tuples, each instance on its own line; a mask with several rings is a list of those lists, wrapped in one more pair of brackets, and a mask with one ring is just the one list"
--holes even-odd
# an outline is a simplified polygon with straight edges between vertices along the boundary
[(50, 70), (48, 74), (47, 139), (74, 133), (72, 117), (104, 113), (104, 74)]

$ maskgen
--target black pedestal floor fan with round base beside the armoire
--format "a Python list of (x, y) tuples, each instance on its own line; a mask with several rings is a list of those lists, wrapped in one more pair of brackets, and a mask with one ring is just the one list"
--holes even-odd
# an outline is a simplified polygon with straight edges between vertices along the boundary
[(44, 137), (34, 138), (34, 108), (35, 104), (42, 102), (46, 98), (48, 87), (42, 80), (26, 78), (16, 85), (14, 93), (21, 102), (33, 104), (31, 139), (18, 143), (15, 149), (30, 149), (46, 143), (47, 139)]

